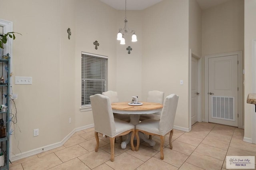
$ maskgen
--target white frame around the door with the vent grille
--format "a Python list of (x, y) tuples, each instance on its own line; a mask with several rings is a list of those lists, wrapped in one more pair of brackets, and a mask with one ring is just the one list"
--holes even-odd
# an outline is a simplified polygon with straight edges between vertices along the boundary
[(225, 57), (228, 55), (237, 55), (238, 56), (238, 128), (243, 128), (243, 82), (242, 82), (242, 72), (243, 72), (243, 54), (242, 51), (234, 51), (230, 53), (220, 53), (206, 55), (204, 57), (204, 121), (209, 122), (209, 113), (208, 113), (208, 59), (214, 57)]

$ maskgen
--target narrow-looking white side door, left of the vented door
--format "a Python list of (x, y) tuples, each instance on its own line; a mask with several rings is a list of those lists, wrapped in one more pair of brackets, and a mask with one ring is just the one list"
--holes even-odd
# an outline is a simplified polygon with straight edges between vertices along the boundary
[(191, 58), (191, 125), (197, 122), (197, 109), (198, 109), (198, 59), (195, 57)]

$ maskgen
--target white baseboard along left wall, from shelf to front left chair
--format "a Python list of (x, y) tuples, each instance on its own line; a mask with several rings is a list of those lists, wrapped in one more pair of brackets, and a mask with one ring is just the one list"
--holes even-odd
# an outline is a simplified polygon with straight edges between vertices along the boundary
[(70, 132), (64, 139), (62, 139), (60, 142), (57, 142), (57, 143), (54, 143), (54, 144), (50, 144), (50, 145), (47, 145), (47, 146), (42, 146), (40, 148), (36, 148), (36, 149), (33, 149), (33, 150), (29, 150), (27, 152), (23, 152), (23, 153), (19, 153), (19, 154), (15, 154), (15, 155), (12, 155), (10, 160), (11, 162), (14, 162), (16, 160), (20, 160), (20, 159), (23, 159), (23, 158), (27, 158), (29, 156), (33, 156), (33, 155), (36, 155), (36, 154), (40, 154), (42, 152), (46, 152), (48, 150), (52, 150), (54, 148), (58, 148), (60, 146), (62, 146), (75, 132), (78, 132), (80, 130), (85, 130), (87, 128), (92, 128), (94, 127), (94, 124), (91, 124), (91, 125), (87, 125), (87, 126), (83, 126), (83, 127), (79, 127), (79, 128), (75, 128), (74, 130), (72, 130), (72, 132)]

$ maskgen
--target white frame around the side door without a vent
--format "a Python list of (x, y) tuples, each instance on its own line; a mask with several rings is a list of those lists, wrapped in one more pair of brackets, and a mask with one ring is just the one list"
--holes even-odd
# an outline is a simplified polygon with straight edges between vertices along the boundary
[[(202, 63), (202, 58), (199, 57), (199, 55), (196, 55), (195, 53), (192, 52), (190, 49), (189, 51), (189, 127), (191, 130), (191, 60), (192, 57), (195, 57), (198, 59), (197, 62), (197, 91), (198, 93), (202, 94), (201, 92), (201, 63)], [(202, 113), (201, 113), (201, 95), (198, 95), (197, 97), (197, 121), (202, 122)]]

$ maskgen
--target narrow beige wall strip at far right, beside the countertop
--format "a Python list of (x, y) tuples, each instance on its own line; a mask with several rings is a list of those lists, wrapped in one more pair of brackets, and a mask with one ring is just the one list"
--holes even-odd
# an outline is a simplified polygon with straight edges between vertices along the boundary
[(244, 1), (244, 137), (252, 138), (252, 114), (254, 105), (247, 104), (248, 93), (252, 93), (252, 40), (256, 39), (256, 0)]

